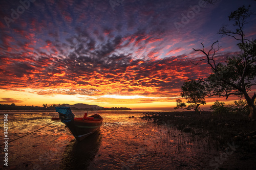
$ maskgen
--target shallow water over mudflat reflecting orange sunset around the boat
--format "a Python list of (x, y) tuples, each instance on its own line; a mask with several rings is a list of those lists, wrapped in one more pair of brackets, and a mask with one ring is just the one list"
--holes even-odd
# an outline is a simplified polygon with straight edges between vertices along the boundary
[[(51, 117), (58, 116), (56, 112), (6, 113), (9, 141), (51, 124)], [(83, 112), (74, 114), (83, 116)], [(3, 122), (3, 112), (0, 115)], [(104, 118), (100, 130), (81, 142), (56, 122), (8, 143), (4, 169), (210, 169), (209, 161), (219, 154), (209, 149), (207, 139), (148, 122), (141, 119), (143, 113), (100, 115)], [(0, 128), (4, 129), (2, 123)]]

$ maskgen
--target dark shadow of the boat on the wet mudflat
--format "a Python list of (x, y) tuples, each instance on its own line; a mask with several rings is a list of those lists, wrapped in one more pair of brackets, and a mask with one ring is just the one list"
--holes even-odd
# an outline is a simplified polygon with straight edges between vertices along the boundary
[(59, 168), (87, 169), (99, 150), (100, 138), (100, 131), (97, 130), (82, 141), (72, 141), (63, 153)]

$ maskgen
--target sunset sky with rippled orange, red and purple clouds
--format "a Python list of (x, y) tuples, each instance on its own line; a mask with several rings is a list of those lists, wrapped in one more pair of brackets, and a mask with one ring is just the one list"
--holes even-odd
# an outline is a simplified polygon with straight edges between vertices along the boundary
[[(223, 63), (239, 49), (219, 29), (233, 28), (228, 16), (243, 5), (256, 12), (252, 0), (214, 2), (1, 1), (0, 104), (174, 110), (184, 80), (211, 72), (205, 62), (191, 63), (204, 57), (193, 48), (218, 40)], [(255, 28), (253, 15), (247, 38), (255, 39)]]

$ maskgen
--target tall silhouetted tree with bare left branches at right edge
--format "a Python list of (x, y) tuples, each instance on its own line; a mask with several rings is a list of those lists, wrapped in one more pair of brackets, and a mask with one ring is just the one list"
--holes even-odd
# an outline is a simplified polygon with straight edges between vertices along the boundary
[[(250, 6), (249, 6), (250, 7)], [(205, 85), (208, 91), (208, 96), (226, 96), (226, 99), (230, 95), (243, 96), (250, 107), (249, 117), (256, 118), (256, 108), (254, 100), (256, 93), (249, 95), (250, 88), (255, 85), (256, 76), (256, 41), (245, 38), (244, 26), (246, 19), (252, 14), (249, 11), (249, 7), (240, 7), (238, 10), (231, 12), (229, 16), (230, 21), (234, 21), (233, 26), (235, 31), (229, 30), (226, 26), (221, 27), (219, 34), (233, 37), (239, 43), (237, 44), (241, 50), (241, 54), (228, 57), (226, 63), (216, 63), (215, 55), (219, 50), (214, 50), (214, 45), (218, 42), (214, 42), (211, 45), (211, 49), (205, 52), (204, 45), (202, 43), (202, 50), (195, 50), (202, 52), (206, 58), (198, 61), (196, 65), (201, 61), (207, 61), (212, 73), (206, 79)], [(213, 51), (212, 51), (213, 50)]]

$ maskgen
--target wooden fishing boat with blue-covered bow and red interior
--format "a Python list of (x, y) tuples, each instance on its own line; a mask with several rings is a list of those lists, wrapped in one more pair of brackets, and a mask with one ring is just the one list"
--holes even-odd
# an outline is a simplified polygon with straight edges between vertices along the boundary
[(70, 107), (55, 107), (59, 117), (52, 117), (52, 120), (61, 120), (66, 125), (70, 133), (79, 141), (94, 133), (102, 125), (103, 118), (99, 114), (87, 117), (75, 117)]

